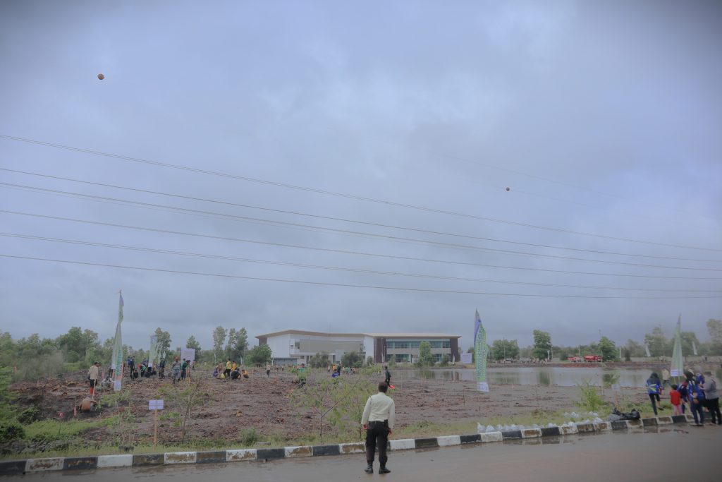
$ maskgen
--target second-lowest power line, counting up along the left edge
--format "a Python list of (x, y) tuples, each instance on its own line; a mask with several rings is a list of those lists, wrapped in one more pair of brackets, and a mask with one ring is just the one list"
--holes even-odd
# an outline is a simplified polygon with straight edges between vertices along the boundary
[(77, 240), (77, 239), (48, 238), (45, 236), (32, 236), (32, 235), (19, 234), (19, 233), (0, 233), (0, 236), (6, 236), (9, 238), (32, 239), (35, 241), (50, 241), (53, 243), (77, 244), (77, 245), (81, 245), (81, 246), (96, 246), (96, 247), (110, 248), (110, 249), (126, 249), (129, 251), (141, 251), (141, 252), (160, 253), (160, 254), (173, 254), (173, 255), (177, 255), (177, 256), (186, 256), (186, 257), (223, 259), (226, 261), (251, 262), (251, 263), (258, 263), (258, 264), (274, 264), (274, 265), (279, 265), (279, 266), (313, 268), (316, 270), (358, 272), (358, 273), (369, 274), (369, 275), (420, 277), (420, 278), (428, 278), (428, 279), (435, 279), (435, 280), (470, 281), (470, 282), (474, 282), (474, 283), (500, 283), (500, 284), (510, 284), (510, 285), (547, 286), (547, 287), (553, 287), (553, 288), (580, 288), (580, 289), (595, 289), (595, 290), (661, 291), (661, 292), (669, 292), (669, 293), (686, 292), (686, 293), (720, 293), (720, 294), (722, 294), (722, 291), (720, 291), (720, 290), (686, 290), (686, 289), (667, 289), (667, 288), (622, 288), (622, 287), (614, 287), (614, 286), (586, 286), (586, 285), (560, 285), (560, 284), (553, 284), (553, 283), (533, 283), (533, 282), (529, 282), (529, 281), (484, 280), (484, 279), (472, 278), (472, 277), (451, 277), (451, 276), (414, 274), (414, 273), (392, 272), (392, 271), (364, 270), (364, 269), (357, 269), (357, 268), (350, 268), (350, 267), (335, 267), (335, 266), (323, 266), (323, 265), (319, 265), (319, 264), (303, 264), (303, 263), (292, 263), (292, 262), (282, 262), (282, 261), (271, 261), (268, 259), (239, 258), (239, 257), (222, 256), (219, 254), (204, 254), (204, 253), (193, 253), (193, 252), (187, 252), (187, 251), (173, 251), (170, 249), (155, 249), (155, 248), (147, 248), (147, 247), (142, 247), (142, 246), (123, 246), (121, 244), (105, 244), (105, 243), (97, 243), (95, 241), (82, 241), (82, 240)]

